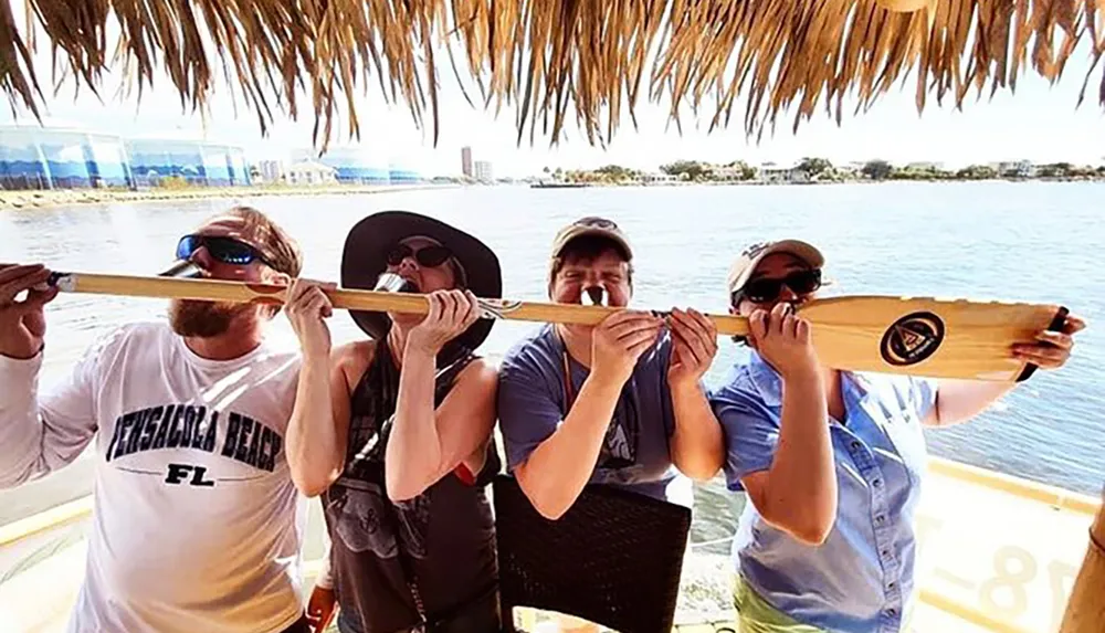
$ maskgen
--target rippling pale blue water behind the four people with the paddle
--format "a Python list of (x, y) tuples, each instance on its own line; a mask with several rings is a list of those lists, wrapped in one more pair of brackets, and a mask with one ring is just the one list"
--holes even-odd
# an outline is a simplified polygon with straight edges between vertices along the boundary
[[(339, 278), (345, 236), (365, 215), (406, 209), (467, 230), (498, 253), (505, 296), (547, 300), (556, 231), (598, 214), (628, 232), (636, 254), (634, 305), (726, 310), (725, 276), (753, 241), (800, 238), (824, 252), (834, 294), (892, 294), (1060, 303), (1090, 321), (1074, 358), (1038, 372), (976, 420), (928, 432), (930, 451), (998, 472), (1096, 494), (1105, 477), (1105, 186), (979, 182), (818, 187), (494, 187), (245, 202), (298, 239), (304, 276)], [(130, 203), (0, 213), (0, 261), (62, 271), (155, 274), (179, 236), (229, 201)], [(165, 302), (62, 295), (49, 307), (42, 383), (67, 371), (113, 325), (164, 314)], [(361, 333), (344, 312), (336, 342)], [(503, 352), (537, 324), (496, 324), (482, 351)], [(276, 336), (291, 336), (283, 315)], [(723, 339), (707, 376), (720, 381), (741, 349)], [(0, 524), (91, 492), (92, 460), (0, 492)], [(693, 540), (732, 535), (734, 498), (702, 486)], [(723, 547), (724, 549), (724, 547)]]

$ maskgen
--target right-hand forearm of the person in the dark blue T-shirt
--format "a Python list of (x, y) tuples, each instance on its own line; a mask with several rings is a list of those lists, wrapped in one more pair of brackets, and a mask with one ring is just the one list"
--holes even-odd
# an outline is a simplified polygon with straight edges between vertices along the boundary
[(671, 386), (675, 432), (672, 434), (672, 462), (684, 475), (708, 481), (725, 463), (725, 437), (722, 425), (697, 382)]

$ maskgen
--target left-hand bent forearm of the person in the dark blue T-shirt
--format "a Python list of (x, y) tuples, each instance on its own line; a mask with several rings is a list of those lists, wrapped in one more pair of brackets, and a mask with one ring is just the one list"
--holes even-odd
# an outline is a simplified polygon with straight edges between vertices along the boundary
[(621, 388), (591, 372), (559, 428), (516, 470), (518, 483), (546, 518), (560, 518), (591, 478)]

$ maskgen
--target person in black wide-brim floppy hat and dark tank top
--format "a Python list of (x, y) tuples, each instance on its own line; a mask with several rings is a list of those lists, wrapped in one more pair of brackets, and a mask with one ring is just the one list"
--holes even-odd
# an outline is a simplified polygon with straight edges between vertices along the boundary
[(322, 495), (343, 632), (498, 631), (497, 372), (476, 357), (502, 296), (498, 259), (476, 238), (407, 211), (349, 232), (347, 288), (428, 295), (427, 315), (352, 312), (367, 340), (330, 351), (330, 304), (297, 281), (288, 318), (303, 348), (287, 436), (292, 477)]

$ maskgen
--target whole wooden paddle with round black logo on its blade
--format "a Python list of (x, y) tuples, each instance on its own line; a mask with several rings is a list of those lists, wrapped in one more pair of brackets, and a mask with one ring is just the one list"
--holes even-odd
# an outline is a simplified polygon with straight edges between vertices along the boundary
[[(284, 286), (220, 279), (55, 273), (51, 283), (69, 293), (231, 303), (283, 304)], [(361, 289), (328, 291), (334, 307), (425, 314), (425, 295)], [(484, 318), (597, 325), (620, 309), (576, 304), (480, 299)], [(655, 312), (663, 315), (664, 313)], [(991, 381), (1027, 380), (1035, 366), (1012, 357), (1015, 342), (1035, 342), (1044, 329), (1063, 326), (1056, 305), (971, 302), (930, 297), (844, 296), (817, 299), (799, 313), (810, 321), (818, 357), (829, 367)], [(748, 334), (748, 320), (707, 315), (717, 331)]]

